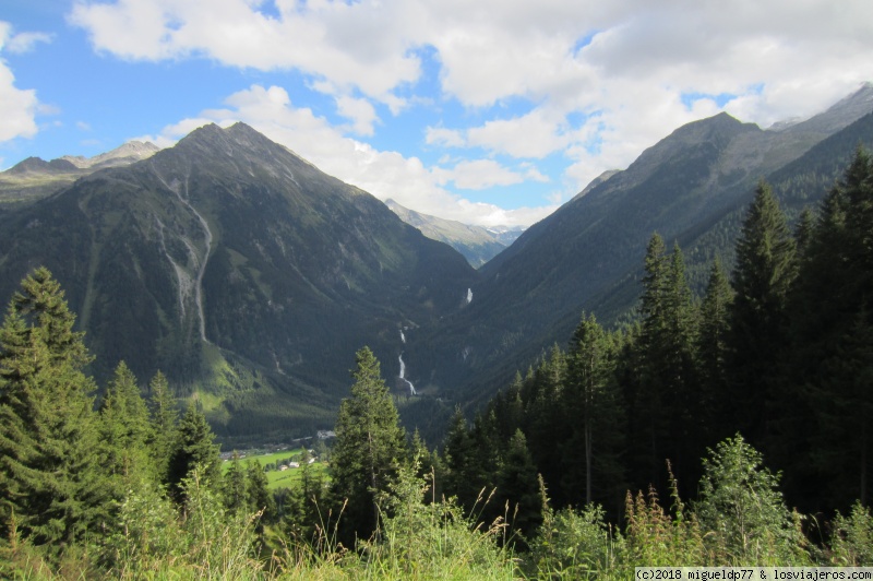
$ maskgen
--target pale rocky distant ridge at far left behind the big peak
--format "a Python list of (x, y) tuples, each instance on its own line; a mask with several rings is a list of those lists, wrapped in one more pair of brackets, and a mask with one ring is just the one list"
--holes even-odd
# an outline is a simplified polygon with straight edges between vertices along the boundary
[(28, 157), (0, 173), (0, 213), (51, 195), (97, 169), (127, 166), (157, 151), (154, 143), (130, 141), (94, 157), (64, 155), (50, 162)]

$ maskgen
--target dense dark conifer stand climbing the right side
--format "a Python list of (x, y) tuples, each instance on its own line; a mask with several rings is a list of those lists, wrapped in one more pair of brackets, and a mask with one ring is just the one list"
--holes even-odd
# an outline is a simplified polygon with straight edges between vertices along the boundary
[(610, 331), (583, 313), (566, 348), (517, 374), (471, 425), (458, 412), (446, 486), (469, 508), (482, 487), (500, 489), (519, 464), (510, 458), (525, 458), (515, 498), (531, 512), (541, 474), (558, 507), (595, 501), (617, 518), (625, 490), (663, 490), (669, 474), (696, 495), (699, 459), (740, 434), (784, 473), (800, 510), (868, 506), (872, 324), (873, 165), (859, 149), (793, 232), (760, 182), (736, 265), (727, 274), (716, 259), (703, 297), (682, 249), (655, 233), (634, 322)]

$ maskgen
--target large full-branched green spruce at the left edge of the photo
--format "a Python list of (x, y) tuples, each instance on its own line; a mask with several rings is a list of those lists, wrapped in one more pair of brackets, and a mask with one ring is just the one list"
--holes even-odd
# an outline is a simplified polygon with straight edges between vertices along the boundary
[(101, 519), (83, 333), (51, 273), (22, 282), (0, 328), (0, 520), (60, 548)]

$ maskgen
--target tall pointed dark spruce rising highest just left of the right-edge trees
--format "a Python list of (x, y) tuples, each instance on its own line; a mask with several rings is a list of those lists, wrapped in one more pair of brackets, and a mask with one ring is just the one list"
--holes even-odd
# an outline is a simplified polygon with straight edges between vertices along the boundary
[(731, 277), (729, 369), (733, 389), (727, 417), (752, 441), (767, 436), (769, 418), (775, 415), (777, 354), (787, 343), (786, 308), (797, 270), (794, 252), (785, 215), (770, 187), (762, 181), (737, 240)]

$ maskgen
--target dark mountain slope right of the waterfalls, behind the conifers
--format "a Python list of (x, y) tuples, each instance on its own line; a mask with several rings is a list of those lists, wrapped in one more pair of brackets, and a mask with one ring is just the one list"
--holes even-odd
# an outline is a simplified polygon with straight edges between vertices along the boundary
[(626, 318), (654, 232), (681, 245), (692, 282), (702, 285), (716, 254), (730, 268), (760, 178), (776, 182), (796, 205), (814, 204), (858, 143), (873, 143), (865, 115), (872, 97), (865, 85), (827, 111), (778, 130), (727, 114), (677, 129), (485, 264), (469, 307), (422, 341), (427, 349), (409, 349), (409, 360), (459, 400), (490, 396), (552, 343), (563, 345), (583, 310), (606, 324)]

